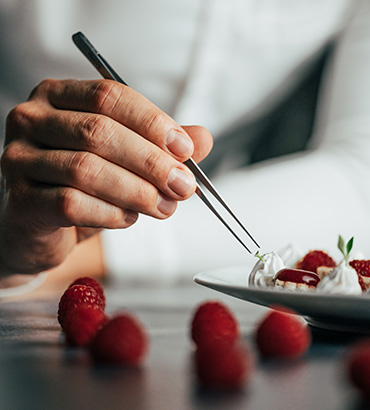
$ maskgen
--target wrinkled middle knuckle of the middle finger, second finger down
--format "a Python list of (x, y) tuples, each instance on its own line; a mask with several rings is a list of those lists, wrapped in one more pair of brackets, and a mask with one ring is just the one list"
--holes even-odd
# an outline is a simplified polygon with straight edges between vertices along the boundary
[(99, 151), (113, 136), (113, 121), (103, 115), (89, 116), (80, 134), (88, 151)]

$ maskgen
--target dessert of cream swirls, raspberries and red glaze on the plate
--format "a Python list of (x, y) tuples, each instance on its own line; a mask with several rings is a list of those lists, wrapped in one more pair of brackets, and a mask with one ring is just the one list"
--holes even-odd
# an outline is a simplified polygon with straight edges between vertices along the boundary
[(249, 285), (293, 291), (316, 291), (359, 295), (370, 289), (370, 260), (351, 259), (353, 238), (347, 243), (339, 236), (343, 258), (336, 262), (324, 250), (311, 250), (303, 257), (292, 247), (281, 256), (276, 252), (256, 254), (257, 263), (249, 275)]

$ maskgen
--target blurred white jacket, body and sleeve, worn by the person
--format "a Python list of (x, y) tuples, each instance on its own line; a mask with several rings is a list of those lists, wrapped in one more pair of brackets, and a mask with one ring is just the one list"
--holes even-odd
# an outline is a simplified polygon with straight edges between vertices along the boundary
[[(315, 149), (214, 182), (263, 251), (333, 250), (341, 233), (370, 255), (369, 21), (368, 0), (0, 0), (1, 117), (45, 77), (97, 77), (71, 43), (81, 30), (132, 87), (217, 138), (281, 98), (339, 37)], [(197, 197), (103, 241), (109, 270), (125, 278), (254, 264)]]

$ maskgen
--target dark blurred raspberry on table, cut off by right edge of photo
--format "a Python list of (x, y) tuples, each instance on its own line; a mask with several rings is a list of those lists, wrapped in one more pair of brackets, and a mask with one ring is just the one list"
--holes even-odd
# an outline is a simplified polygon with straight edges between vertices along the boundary
[(347, 372), (352, 384), (370, 399), (370, 339), (362, 340), (350, 348)]

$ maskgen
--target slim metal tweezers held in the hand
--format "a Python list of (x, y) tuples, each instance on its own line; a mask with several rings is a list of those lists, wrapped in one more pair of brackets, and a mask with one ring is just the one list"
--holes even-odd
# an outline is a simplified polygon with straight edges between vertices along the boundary
[[(110, 64), (104, 59), (104, 57), (95, 49), (87, 37), (81, 33), (75, 33), (72, 36), (72, 40), (77, 46), (77, 48), (82, 52), (82, 54), (90, 61), (90, 63), (98, 70), (101, 76), (108, 80), (118, 81), (121, 84), (128, 86), (128, 84), (113, 70)], [(229, 232), (236, 238), (236, 240), (249, 252), (252, 253), (248, 246), (240, 239), (236, 232), (230, 227), (222, 215), (213, 206), (211, 201), (208, 199), (206, 193), (201, 188), (200, 183), (209, 190), (209, 192), (218, 200), (218, 202), (227, 210), (227, 212), (232, 216), (236, 223), (242, 228), (242, 230), (249, 236), (249, 238), (254, 242), (254, 244), (259, 248), (260, 246), (248, 232), (248, 230), (241, 223), (239, 218), (231, 210), (231, 208), (226, 204), (221, 195), (217, 192), (216, 188), (213, 186), (212, 182), (208, 179), (206, 174), (201, 170), (201, 168), (196, 164), (196, 162), (189, 158), (184, 164), (191, 170), (197, 180), (196, 193), (199, 198), (207, 205), (207, 207), (213, 212), (213, 214), (225, 225)]]

